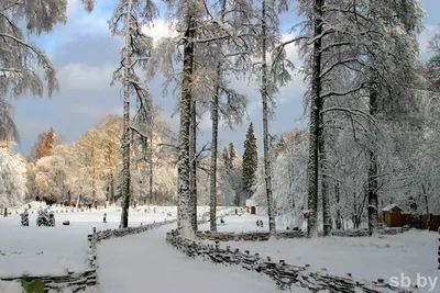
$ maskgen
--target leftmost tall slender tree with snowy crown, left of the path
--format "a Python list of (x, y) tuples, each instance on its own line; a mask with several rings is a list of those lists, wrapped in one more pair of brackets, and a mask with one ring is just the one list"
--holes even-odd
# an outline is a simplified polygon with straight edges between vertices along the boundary
[[(136, 67), (145, 68), (151, 56), (153, 41), (142, 33), (142, 25), (151, 25), (157, 15), (157, 9), (151, 1), (121, 0), (114, 9), (109, 22), (113, 35), (124, 37), (124, 47), (121, 52), (121, 66), (113, 74), (113, 81), (123, 83), (123, 134), (122, 134), (122, 213), (121, 226), (129, 225), (130, 207), (130, 138), (133, 127), (130, 119), (130, 98), (135, 94), (138, 104), (136, 114), (150, 115), (152, 98), (147, 88), (135, 72)], [(146, 136), (146, 135), (145, 135)]]

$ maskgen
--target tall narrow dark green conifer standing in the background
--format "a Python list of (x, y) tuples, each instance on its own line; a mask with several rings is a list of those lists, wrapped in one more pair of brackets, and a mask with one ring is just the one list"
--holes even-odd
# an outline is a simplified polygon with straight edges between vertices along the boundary
[(251, 190), (255, 181), (255, 173), (258, 166), (258, 153), (254, 125), (251, 123), (248, 128), (246, 140), (244, 140), (243, 153), (243, 191), (245, 196), (251, 198)]

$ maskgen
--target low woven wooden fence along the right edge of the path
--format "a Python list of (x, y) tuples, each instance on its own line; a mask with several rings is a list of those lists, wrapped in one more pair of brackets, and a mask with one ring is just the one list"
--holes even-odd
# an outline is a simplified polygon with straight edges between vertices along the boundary
[(258, 253), (251, 255), (249, 250), (243, 253), (239, 249), (231, 249), (230, 246), (222, 249), (219, 241), (216, 241), (216, 245), (196, 243), (180, 237), (175, 230), (167, 233), (166, 241), (188, 257), (201, 257), (215, 263), (240, 266), (245, 270), (266, 274), (275, 281), (280, 290), (299, 286), (308, 289), (311, 292), (417, 292), (417, 289), (414, 288), (410, 291), (406, 291), (392, 286), (384, 279), (378, 279), (376, 282), (362, 281), (354, 280), (351, 274), (348, 274), (348, 277), (331, 275), (324, 268), (321, 271), (311, 271), (308, 264), (306, 267), (298, 267), (287, 264), (284, 260), (279, 260), (279, 263), (276, 263), (270, 257), (265, 260)]

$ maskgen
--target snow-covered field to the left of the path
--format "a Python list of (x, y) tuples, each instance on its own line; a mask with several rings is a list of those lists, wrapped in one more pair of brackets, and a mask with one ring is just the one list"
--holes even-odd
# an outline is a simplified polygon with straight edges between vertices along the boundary
[[(31, 203), (30, 226), (21, 226), (20, 215), (11, 210), (8, 217), (0, 216), (0, 277), (21, 275), (23, 272), (30, 274), (65, 273), (66, 270), (81, 270), (86, 266), (87, 235), (97, 229), (118, 228), (120, 222), (120, 209), (91, 210), (90, 212), (72, 213), (70, 209), (61, 209), (55, 213), (55, 227), (37, 227), (36, 216), (40, 203)], [(175, 218), (177, 209), (150, 207), (131, 209), (130, 226), (139, 226)], [(154, 213), (156, 209), (156, 213)], [(68, 213), (65, 211), (68, 210)], [(23, 209), (19, 209), (21, 213)], [(32, 211), (34, 213), (32, 213)], [(201, 215), (208, 207), (199, 207)], [(172, 216), (167, 216), (170, 212)], [(102, 223), (103, 214), (107, 213), (107, 222)], [(63, 226), (64, 221), (70, 221), (70, 226)], [(163, 235), (165, 238), (165, 235)]]

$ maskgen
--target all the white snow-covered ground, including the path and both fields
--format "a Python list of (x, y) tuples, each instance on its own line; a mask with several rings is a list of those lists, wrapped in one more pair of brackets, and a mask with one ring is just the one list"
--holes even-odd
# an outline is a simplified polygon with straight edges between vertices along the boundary
[[(155, 213), (153, 212), (154, 207), (150, 207), (147, 213), (144, 210), (145, 206), (140, 206), (130, 211), (131, 226), (175, 218), (177, 213), (176, 207), (156, 207)], [(199, 216), (207, 211), (209, 211), (208, 207), (199, 207)], [(167, 216), (169, 212), (172, 217)], [(107, 213), (108, 223), (102, 223), (103, 213)], [(218, 214), (221, 213), (218, 212)], [(23, 272), (31, 274), (65, 273), (66, 270), (84, 269), (87, 235), (91, 234), (92, 227), (97, 227), (97, 229), (118, 228), (120, 211), (114, 207), (81, 213), (59, 213), (58, 211), (55, 213), (55, 218), (56, 227), (37, 227), (36, 210), (34, 210), (34, 213), (30, 214), (30, 227), (22, 227), (20, 215), (14, 212), (8, 217), (0, 217), (1, 277), (21, 275)], [(70, 221), (70, 226), (62, 225), (66, 219)], [(257, 219), (264, 222), (264, 227), (256, 226)], [(224, 222), (224, 224), (219, 224), (219, 232), (268, 230), (265, 215), (231, 215), (226, 216)], [(229, 292), (249, 292), (248, 289), (253, 288), (254, 284), (253, 292), (274, 292), (273, 285), (263, 285), (267, 280), (260, 280), (260, 277), (256, 280), (255, 275), (242, 274), (241, 271), (233, 271), (232, 274), (231, 268), (219, 268), (212, 263), (202, 264), (198, 260), (187, 259), (174, 248), (166, 246), (165, 233), (174, 227), (175, 225), (166, 226), (154, 233), (148, 232), (101, 244), (98, 249), (100, 266), (98, 278), (100, 278), (101, 292), (122, 292), (129, 289), (134, 290), (134, 288), (138, 290), (138, 286), (142, 288), (147, 284), (133, 285), (131, 282), (136, 282), (142, 275), (148, 274), (155, 275), (148, 281), (154, 280), (155, 292), (174, 292), (169, 290), (184, 286), (187, 284), (187, 279), (193, 280), (196, 274), (204, 275), (201, 279), (209, 280), (209, 284), (219, 283), (218, 289), (221, 289), (219, 292), (226, 292), (226, 288), (221, 288), (220, 284), (227, 284), (226, 280), (232, 280), (230, 279), (232, 275), (234, 275), (234, 282), (228, 283), (230, 284)], [(209, 223), (200, 225), (199, 229), (209, 229)], [(263, 257), (271, 256), (274, 261), (283, 259), (292, 264), (304, 266), (307, 263), (311, 266), (311, 270), (327, 268), (331, 274), (352, 273), (355, 279), (376, 280), (381, 278), (389, 282), (389, 278), (397, 277), (399, 279), (396, 281), (402, 281), (402, 278), (405, 277), (416, 283), (417, 274), (425, 278), (430, 277), (432, 282), (436, 281), (435, 286), (428, 282), (426, 286), (420, 288), (420, 292), (440, 292), (440, 281), (436, 279), (439, 275), (437, 269), (438, 237), (439, 235), (432, 232), (409, 230), (395, 236), (373, 238), (271, 239), (258, 243), (222, 243), (221, 246), (230, 245), (240, 250), (250, 250), (251, 253), (260, 252)], [(121, 249), (127, 249), (124, 257), (116, 258), (114, 256), (119, 255)], [(154, 263), (154, 266), (148, 263)], [(112, 279), (117, 279), (117, 275), (122, 273), (121, 271), (124, 272), (127, 280), (114, 283)], [(136, 273), (138, 271), (139, 273)], [(158, 273), (160, 271), (164, 274), (163, 277)], [(170, 288), (165, 280), (167, 274), (179, 274), (182, 278)], [(160, 286), (161, 283), (163, 283), (163, 288)], [(207, 282), (199, 283), (197, 292), (202, 292), (205, 283)], [(250, 285), (251, 283), (252, 285)], [(256, 290), (256, 288), (260, 289)], [(206, 290), (208, 289), (212, 288), (207, 286)], [(429, 291), (430, 289), (432, 290)], [(130, 290), (125, 292), (138, 292)]]

